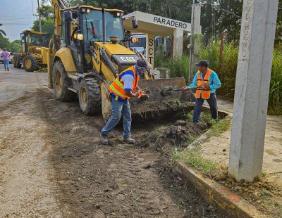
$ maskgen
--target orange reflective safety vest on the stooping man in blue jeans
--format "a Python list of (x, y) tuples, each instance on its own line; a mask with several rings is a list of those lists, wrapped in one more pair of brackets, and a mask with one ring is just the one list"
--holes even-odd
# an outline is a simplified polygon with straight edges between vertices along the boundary
[[(133, 75), (134, 79), (133, 79), (133, 90), (135, 91), (136, 86), (138, 85), (140, 76), (136, 74), (135, 68), (134, 66), (124, 70), (123, 72), (121, 72), (118, 77), (116, 77), (116, 79), (114, 80), (114, 82), (111, 83), (111, 85), (109, 86), (109, 91), (122, 98), (123, 100), (125, 100), (126, 98), (130, 98), (129, 96), (127, 96), (125, 94), (125, 90), (124, 90), (124, 84), (123, 84), (123, 76), (124, 75)], [(116, 99), (118, 100), (118, 99)]]

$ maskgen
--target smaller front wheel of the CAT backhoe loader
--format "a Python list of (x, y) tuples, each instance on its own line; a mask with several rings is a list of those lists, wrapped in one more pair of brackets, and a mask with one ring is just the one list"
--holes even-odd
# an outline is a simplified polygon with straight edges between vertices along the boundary
[(101, 112), (101, 87), (97, 79), (88, 77), (80, 82), (78, 99), (80, 109), (85, 115), (95, 115)]

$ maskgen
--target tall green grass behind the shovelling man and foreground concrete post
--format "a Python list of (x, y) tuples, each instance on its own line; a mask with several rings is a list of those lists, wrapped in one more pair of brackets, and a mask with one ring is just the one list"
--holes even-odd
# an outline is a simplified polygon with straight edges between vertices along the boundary
[[(221, 79), (221, 87), (216, 90), (216, 94), (226, 96), (227, 98), (234, 98), (235, 93), (235, 79), (238, 61), (238, 44), (235, 42), (226, 42), (223, 46), (223, 56), (221, 63), (221, 70), (219, 70), (219, 39), (211, 39), (208, 44), (204, 44), (204, 39), (195, 48), (198, 53), (198, 59), (207, 59), (210, 63), (210, 68), (218, 73)], [(189, 56), (184, 54), (182, 58), (163, 59), (163, 62), (156, 58), (157, 65), (155, 67), (164, 67), (170, 70), (171, 77), (185, 77), (188, 82), (189, 75)], [(269, 89), (269, 115), (282, 114), (282, 43), (277, 44), (274, 49), (271, 82)], [(196, 68), (194, 72), (196, 72)], [(192, 75), (193, 77), (194, 75)], [(191, 79), (190, 79), (191, 81)]]

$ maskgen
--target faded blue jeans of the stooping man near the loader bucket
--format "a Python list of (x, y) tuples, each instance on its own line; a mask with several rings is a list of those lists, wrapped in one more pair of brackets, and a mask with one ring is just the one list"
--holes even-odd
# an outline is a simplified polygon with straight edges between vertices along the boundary
[(130, 137), (131, 111), (129, 101), (116, 101), (114, 98), (111, 100), (111, 117), (102, 129), (104, 136), (107, 136), (116, 127), (121, 120), (121, 115), (123, 115), (123, 136)]

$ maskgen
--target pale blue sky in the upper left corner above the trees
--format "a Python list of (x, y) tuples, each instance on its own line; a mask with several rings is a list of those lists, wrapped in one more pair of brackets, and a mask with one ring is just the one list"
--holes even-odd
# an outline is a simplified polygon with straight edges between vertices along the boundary
[(0, 28), (10, 41), (20, 39), (23, 30), (30, 30), (36, 20), (32, 15), (37, 12), (36, 7), (37, 0), (0, 0)]

